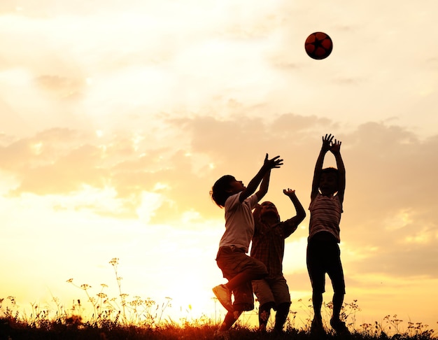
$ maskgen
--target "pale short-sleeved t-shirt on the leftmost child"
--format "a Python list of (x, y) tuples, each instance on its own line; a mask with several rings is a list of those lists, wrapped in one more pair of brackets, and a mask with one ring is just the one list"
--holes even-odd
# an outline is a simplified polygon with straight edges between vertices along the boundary
[(257, 204), (257, 195), (253, 194), (242, 203), (241, 192), (233, 194), (225, 201), (225, 232), (219, 246), (236, 246), (248, 253), (249, 244), (254, 234), (253, 208)]

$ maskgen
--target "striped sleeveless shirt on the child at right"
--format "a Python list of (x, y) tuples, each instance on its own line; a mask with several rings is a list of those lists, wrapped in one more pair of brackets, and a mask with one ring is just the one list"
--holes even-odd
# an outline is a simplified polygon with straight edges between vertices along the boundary
[(318, 193), (309, 206), (309, 239), (318, 232), (330, 232), (339, 243), (341, 241), (339, 222), (342, 204), (337, 196), (323, 196)]

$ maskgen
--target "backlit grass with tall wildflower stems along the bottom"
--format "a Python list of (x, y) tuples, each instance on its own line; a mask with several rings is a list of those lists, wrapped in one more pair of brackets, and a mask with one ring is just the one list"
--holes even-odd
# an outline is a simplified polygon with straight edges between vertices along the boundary
[[(118, 285), (118, 298), (109, 298), (107, 285), (101, 285), (98, 292), (91, 293), (91, 286), (76, 285), (73, 279), (67, 283), (83, 290), (87, 298), (85, 308), (80, 299), (73, 302), (70, 309), (65, 309), (59, 299), (53, 297), (52, 306), (31, 304), (29, 316), (20, 312), (15, 297), (0, 299), (0, 340), (17, 339), (99, 339), (99, 340), (137, 340), (137, 339), (213, 339), (220, 320), (212, 320), (206, 316), (197, 319), (180, 318), (175, 322), (164, 318), (164, 312), (171, 307), (171, 298), (167, 297), (162, 304), (153, 299), (133, 297), (122, 291), (122, 278), (118, 274), (118, 259), (110, 262), (113, 266), (115, 280)], [(216, 305), (216, 304), (215, 304)], [(312, 339), (309, 334), (313, 318), (311, 304), (306, 305), (298, 300), (292, 306), (305, 311), (306, 320), (297, 325), (297, 311), (290, 311), (285, 332), (281, 336), (268, 332), (260, 334), (257, 327), (249, 320), (257, 316), (257, 309), (243, 314), (230, 332), (231, 339)], [(90, 311), (88, 315), (86, 311)], [(437, 332), (423, 323), (404, 324), (397, 316), (386, 316), (383, 322), (356, 324), (356, 313), (360, 311), (357, 301), (345, 303), (341, 318), (351, 331), (350, 339), (406, 339), (426, 340), (438, 339)], [(325, 304), (323, 311), (325, 325), (328, 325), (332, 312), (332, 304)], [(216, 319), (216, 318), (215, 318)], [(272, 319), (272, 316), (271, 316)], [(268, 325), (272, 327), (272, 320)], [(327, 329), (327, 339), (341, 339)]]

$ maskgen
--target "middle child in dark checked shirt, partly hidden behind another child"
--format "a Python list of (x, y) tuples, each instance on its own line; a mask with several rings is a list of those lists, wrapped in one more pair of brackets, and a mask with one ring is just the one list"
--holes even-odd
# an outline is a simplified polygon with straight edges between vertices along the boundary
[(257, 205), (253, 211), (255, 232), (251, 246), (251, 257), (262, 261), (269, 273), (261, 280), (253, 281), (254, 294), (260, 303), (259, 330), (266, 332), (271, 309), (274, 309), (276, 334), (283, 332), (291, 303), (288, 283), (283, 276), (285, 239), (297, 230), (299, 223), (306, 217), (306, 211), (299, 202), (295, 190), (283, 190), (283, 194), (292, 201), (295, 216), (281, 221), (273, 203), (264, 201)]

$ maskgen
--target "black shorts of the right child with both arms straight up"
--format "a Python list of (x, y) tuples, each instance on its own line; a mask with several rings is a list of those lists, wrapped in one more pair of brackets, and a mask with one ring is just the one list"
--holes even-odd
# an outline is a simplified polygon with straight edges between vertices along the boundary
[(327, 273), (332, 281), (333, 291), (345, 294), (341, 250), (332, 234), (318, 232), (309, 240), (306, 262), (313, 292), (325, 292), (325, 273)]

